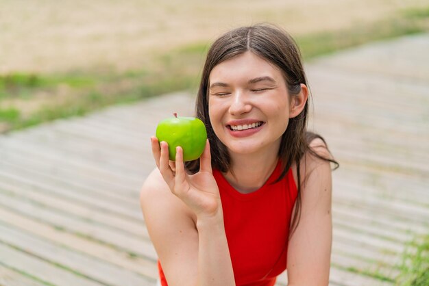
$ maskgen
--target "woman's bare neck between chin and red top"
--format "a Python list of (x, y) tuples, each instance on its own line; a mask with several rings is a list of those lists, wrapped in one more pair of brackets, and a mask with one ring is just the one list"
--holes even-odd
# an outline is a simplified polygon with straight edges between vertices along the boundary
[(230, 154), (231, 168), (225, 179), (238, 192), (248, 194), (258, 190), (267, 182), (278, 161), (276, 149), (259, 154)]

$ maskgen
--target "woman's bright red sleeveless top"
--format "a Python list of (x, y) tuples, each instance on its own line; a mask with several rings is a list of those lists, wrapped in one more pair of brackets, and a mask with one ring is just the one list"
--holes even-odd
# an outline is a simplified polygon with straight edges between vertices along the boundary
[[(278, 183), (280, 160), (260, 189), (241, 194), (223, 177), (219, 170), (213, 176), (219, 186), (225, 234), (236, 285), (271, 286), (286, 270), (289, 226), (297, 187), (292, 169)], [(160, 281), (167, 286), (158, 261)]]

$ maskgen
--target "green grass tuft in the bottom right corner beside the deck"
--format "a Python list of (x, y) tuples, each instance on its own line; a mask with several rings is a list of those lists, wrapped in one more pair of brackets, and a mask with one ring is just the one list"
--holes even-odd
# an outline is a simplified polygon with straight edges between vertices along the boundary
[(429, 235), (416, 237), (408, 245), (400, 265), (401, 274), (396, 285), (428, 286), (429, 285)]

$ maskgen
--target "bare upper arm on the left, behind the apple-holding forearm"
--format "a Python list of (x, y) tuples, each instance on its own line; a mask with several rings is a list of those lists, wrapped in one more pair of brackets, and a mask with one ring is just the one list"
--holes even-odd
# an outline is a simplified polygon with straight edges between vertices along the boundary
[(158, 169), (143, 184), (140, 205), (169, 285), (192, 285), (198, 256), (195, 222), (186, 205), (171, 194)]

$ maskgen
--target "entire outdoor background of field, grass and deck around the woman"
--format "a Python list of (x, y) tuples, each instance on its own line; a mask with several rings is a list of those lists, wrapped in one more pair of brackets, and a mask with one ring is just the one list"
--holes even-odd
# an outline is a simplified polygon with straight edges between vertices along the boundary
[(0, 0), (0, 285), (155, 285), (149, 135), (192, 114), (215, 38), (263, 22), (341, 164), (330, 285), (428, 286), (429, 0)]

